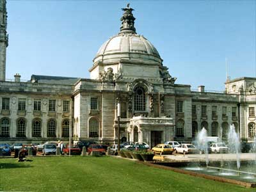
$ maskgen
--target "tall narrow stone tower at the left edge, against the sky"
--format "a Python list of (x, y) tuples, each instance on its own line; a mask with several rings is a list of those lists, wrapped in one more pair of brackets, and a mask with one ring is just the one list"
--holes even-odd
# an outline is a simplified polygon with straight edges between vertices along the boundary
[(0, 81), (5, 81), (6, 47), (8, 47), (6, 0), (0, 0)]

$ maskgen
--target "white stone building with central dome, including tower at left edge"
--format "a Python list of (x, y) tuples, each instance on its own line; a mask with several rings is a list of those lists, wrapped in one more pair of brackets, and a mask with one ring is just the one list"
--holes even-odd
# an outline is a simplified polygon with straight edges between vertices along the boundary
[[(241, 139), (255, 136), (256, 78), (227, 81), (223, 93), (192, 92), (175, 84), (147, 38), (136, 33), (132, 8), (124, 8), (120, 32), (99, 49), (90, 79), (31, 76), (5, 81), (6, 1), (0, 1), (0, 140), (117, 141), (117, 102), (121, 104), (120, 138), (154, 146), (168, 140), (193, 140), (205, 127), (209, 136), (227, 137), (230, 124)], [(70, 132), (71, 130), (71, 132)]]

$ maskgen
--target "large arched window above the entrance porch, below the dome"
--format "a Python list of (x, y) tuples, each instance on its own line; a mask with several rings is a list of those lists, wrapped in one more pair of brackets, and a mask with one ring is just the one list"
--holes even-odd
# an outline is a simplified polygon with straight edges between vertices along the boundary
[(134, 111), (145, 111), (146, 98), (145, 90), (138, 86), (134, 90)]

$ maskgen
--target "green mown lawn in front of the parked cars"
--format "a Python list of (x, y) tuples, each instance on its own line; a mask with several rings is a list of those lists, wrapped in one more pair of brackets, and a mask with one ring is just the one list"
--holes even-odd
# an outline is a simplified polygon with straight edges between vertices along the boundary
[(0, 159), (0, 191), (254, 191), (115, 157)]

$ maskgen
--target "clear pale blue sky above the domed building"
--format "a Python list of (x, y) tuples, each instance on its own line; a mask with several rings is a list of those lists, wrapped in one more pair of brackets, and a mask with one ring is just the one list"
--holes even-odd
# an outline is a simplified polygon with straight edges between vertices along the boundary
[(256, 74), (256, 1), (8, 0), (6, 78), (31, 74), (90, 78), (100, 45), (120, 30), (121, 8), (158, 50), (176, 83), (224, 90)]

